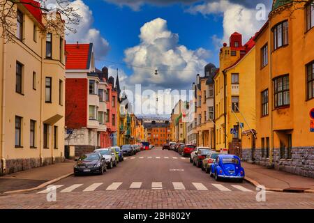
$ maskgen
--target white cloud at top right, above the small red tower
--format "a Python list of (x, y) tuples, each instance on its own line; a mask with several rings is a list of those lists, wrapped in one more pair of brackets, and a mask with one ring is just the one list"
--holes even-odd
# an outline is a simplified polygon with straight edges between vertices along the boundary
[[(255, 2), (253, 5), (248, 3), (248, 1), (221, 0), (207, 2), (190, 7), (188, 12), (193, 14), (201, 13), (202, 15), (223, 15), (223, 38), (212, 37), (214, 44), (220, 42), (221, 45), (222, 42), (227, 42), (230, 35), (235, 31), (243, 35), (244, 41), (248, 40), (266, 22), (265, 20), (256, 19), (257, 10), (255, 7), (257, 6), (257, 1), (253, 2)], [(249, 8), (249, 6), (255, 7)]]

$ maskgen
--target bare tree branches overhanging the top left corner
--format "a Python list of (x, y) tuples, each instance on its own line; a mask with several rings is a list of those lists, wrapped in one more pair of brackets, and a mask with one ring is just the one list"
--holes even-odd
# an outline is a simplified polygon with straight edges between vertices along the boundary
[(80, 23), (81, 16), (71, 2), (72, 0), (0, 0), (0, 37), (6, 42), (16, 40), (17, 7), (38, 13), (40, 31), (43, 33), (53, 31), (59, 36), (65, 30), (76, 33), (74, 26)]

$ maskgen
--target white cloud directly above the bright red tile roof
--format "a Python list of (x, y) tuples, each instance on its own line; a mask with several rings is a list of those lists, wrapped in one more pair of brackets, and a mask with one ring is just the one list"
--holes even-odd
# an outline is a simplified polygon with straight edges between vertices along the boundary
[(68, 33), (66, 40), (68, 43), (94, 43), (97, 47), (94, 48), (96, 57), (101, 58), (107, 54), (110, 49), (109, 43), (98, 29), (93, 28), (94, 17), (84, 1), (75, 0), (70, 3), (70, 6), (77, 9), (77, 13), (82, 16), (80, 24), (75, 26), (77, 33)]

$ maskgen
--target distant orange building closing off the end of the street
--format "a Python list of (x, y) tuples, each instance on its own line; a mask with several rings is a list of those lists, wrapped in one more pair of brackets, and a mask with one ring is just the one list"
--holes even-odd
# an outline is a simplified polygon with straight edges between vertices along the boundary
[(154, 146), (163, 146), (171, 139), (170, 123), (144, 123), (144, 129), (147, 130), (147, 140)]

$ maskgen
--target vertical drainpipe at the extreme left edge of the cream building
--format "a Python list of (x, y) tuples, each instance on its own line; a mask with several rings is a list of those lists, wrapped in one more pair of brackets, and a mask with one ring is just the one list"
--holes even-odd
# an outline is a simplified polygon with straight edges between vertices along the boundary
[(1, 83), (1, 89), (2, 89), (2, 98), (1, 98), (1, 146), (0, 146), (0, 152), (1, 152), (1, 173), (5, 174), (6, 173), (6, 158), (3, 156), (4, 153), (4, 146), (5, 146), (5, 141), (4, 141), (4, 135), (5, 135), (5, 130), (6, 128), (4, 127), (4, 122), (5, 122), (5, 112), (6, 112), (6, 43), (3, 41), (3, 55), (2, 55), (2, 83)]

